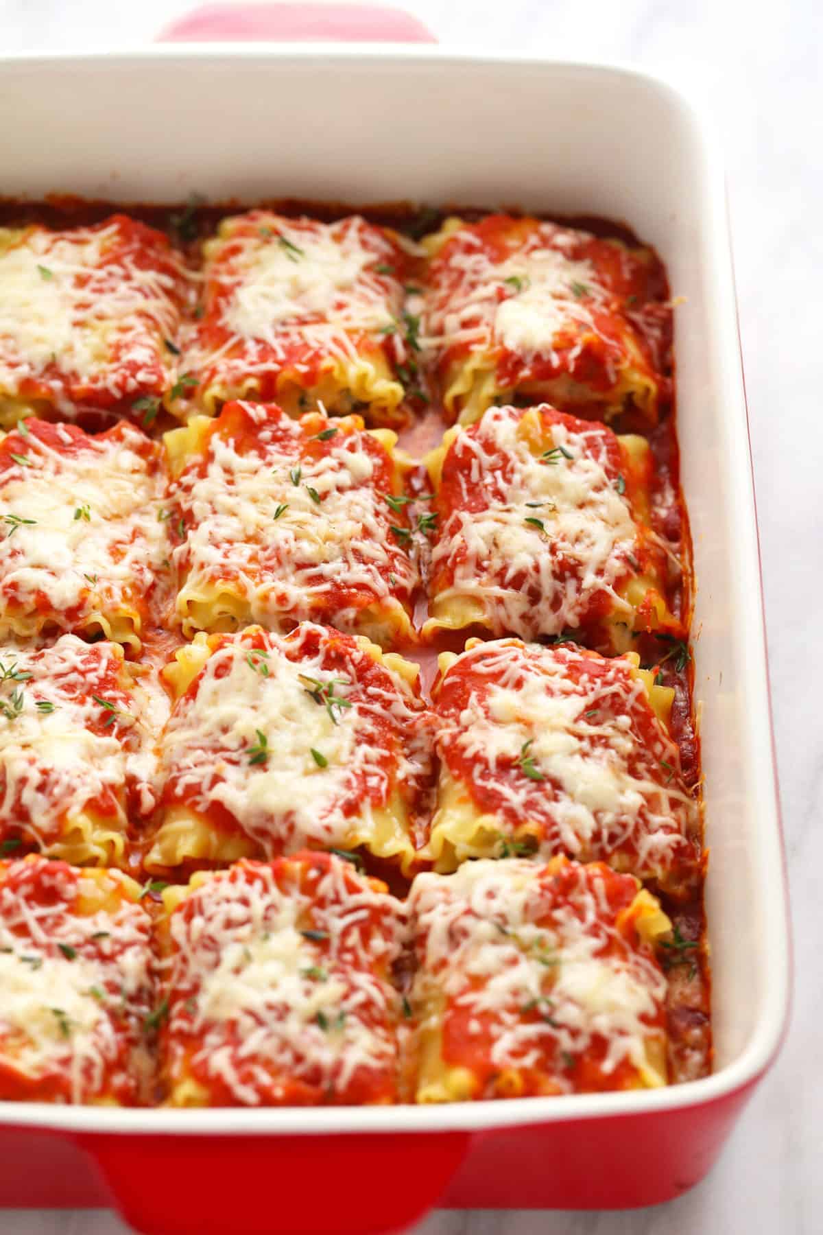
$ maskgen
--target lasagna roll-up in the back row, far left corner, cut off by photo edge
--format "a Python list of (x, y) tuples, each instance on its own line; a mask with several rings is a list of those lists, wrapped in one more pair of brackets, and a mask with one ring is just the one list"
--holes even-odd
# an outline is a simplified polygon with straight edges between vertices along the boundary
[(168, 238), (125, 215), (0, 227), (0, 424), (157, 409), (176, 377), (185, 289)]

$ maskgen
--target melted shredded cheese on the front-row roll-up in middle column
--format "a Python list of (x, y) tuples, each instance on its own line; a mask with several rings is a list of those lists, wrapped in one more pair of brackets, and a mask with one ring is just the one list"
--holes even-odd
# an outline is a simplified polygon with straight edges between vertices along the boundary
[[(258, 871), (242, 878), (236, 867), (194, 893), (194, 918), (172, 914), (169, 983), (194, 992), (195, 1063), (247, 1105), (276, 1078), (339, 1092), (358, 1070), (392, 1068), (396, 995), (375, 966), (385, 971), (399, 955), (397, 903), (365, 881), (349, 890), (337, 863), (311, 894), (284, 892), (270, 868)], [(371, 908), (390, 914), (366, 948), (352, 926)], [(308, 923), (328, 940), (322, 948), (302, 934)], [(178, 1004), (172, 1035), (185, 1025)]]

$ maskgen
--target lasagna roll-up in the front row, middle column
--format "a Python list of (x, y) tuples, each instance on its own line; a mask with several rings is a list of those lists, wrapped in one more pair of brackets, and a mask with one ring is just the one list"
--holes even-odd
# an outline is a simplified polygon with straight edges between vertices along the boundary
[(167, 888), (160, 1076), (173, 1107), (397, 1100), (401, 904), (331, 853)]

